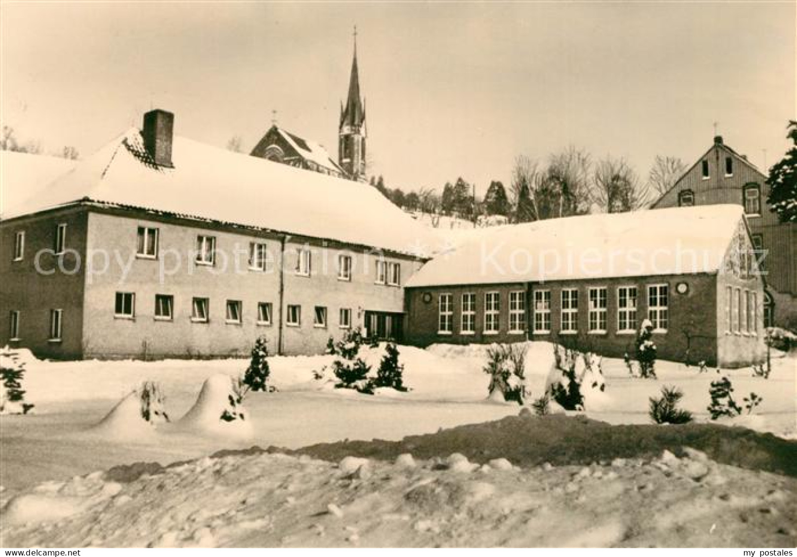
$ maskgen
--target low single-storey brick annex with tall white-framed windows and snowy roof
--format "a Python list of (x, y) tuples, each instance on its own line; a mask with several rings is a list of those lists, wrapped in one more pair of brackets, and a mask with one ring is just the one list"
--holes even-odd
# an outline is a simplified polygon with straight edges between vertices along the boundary
[(406, 284), (409, 343), (524, 339), (734, 367), (764, 355), (764, 281), (740, 206), (558, 218), (485, 229)]

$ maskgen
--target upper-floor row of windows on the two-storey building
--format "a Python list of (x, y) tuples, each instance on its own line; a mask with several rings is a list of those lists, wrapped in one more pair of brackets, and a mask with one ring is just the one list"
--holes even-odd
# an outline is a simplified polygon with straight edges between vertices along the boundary
[[(65, 253), (67, 225), (58, 224), (54, 231), (53, 252), (56, 255)], [(139, 226), (135, 248), (136, 257), (142, 259), (157, 259), (159, 256), (159, 236), (158, 228)], [(194, 262), (197, 265), (216, 265), (216, 237), (199, 234), (196, 239)], [(14, 236), (14, 261), (25, 259), (25, 231), (18, 230)], [(273, 270), (273, 257), (269, 252), (269, 246), (263, 242), (249, 243), (249, 270), (270, 272)], [(310, 277), (312, 274), (312, 251), (307, 248), (296, 249), (296, 275)], [(338, 254), (336, 273), (338, 280), (351, 281), (353, 271), (353, 261), (351, 255)], [(384, 261), (378, 259), (375, 267), (375, 284), (387, 284), (389, 286), (401, 285), (401, 265), (398, 262)]]

